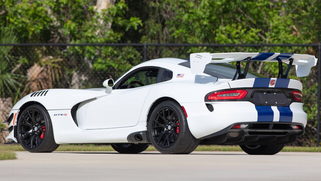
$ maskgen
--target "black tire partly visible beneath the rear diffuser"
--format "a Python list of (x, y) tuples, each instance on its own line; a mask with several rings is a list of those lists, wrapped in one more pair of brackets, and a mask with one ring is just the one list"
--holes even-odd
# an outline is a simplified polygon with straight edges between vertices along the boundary
[(242, 150), (250, 155), (274, 155), (280, 152), (285, 144), (275, 145), (240, 145)]

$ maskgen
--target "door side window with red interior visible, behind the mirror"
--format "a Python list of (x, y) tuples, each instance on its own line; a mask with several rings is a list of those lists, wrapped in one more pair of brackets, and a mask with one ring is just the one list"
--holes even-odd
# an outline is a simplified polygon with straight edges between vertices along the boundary
[(157, 82), (158, 68), (141, 69), (121, 81), (119, 89), (135, 88), (144, 85), (150, 85)]

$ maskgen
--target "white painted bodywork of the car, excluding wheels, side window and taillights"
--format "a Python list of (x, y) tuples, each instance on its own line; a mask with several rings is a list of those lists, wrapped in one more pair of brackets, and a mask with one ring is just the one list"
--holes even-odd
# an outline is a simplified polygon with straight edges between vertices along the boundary
[[(213, 56), (213, 54), (208, 55)], [(309, 55), (310, 57), (312, 56)], [(194, 59), (192, 57), (191, 62)], [(228, 61), (232, 60), (228, 59)], [(109, 94), (106, 93), (106, 88), (49, 89), (29, 94), (12, 108), (10, 115), (14, 116), (9, 127), (15, 128), (19, 112), (26, 105), (36, 103), (48, 111), (57, 144), (128, 143), (130, 134), (146, 131), (148, 114), (153, 105), (159, 100), (168, 99), (175, 100), (185, 108), (189, 129), (198, 139), (218, 133), (235, 123), (255, 123), (264, 121), (266, 118), (272, 122), (306, 125), (307, 115), (302, 109), (303, 103), (299, 102), (293, 102), (285, 109), (270, 106), (271, 112), (259, 110), (255, 104), (248, 101), (206, 102), (205, 100), (205, 96), (211, 92), (231, 88), (280, 87), (301, 92), (302, 84), (298, 80), (257, 77), (238, 80), (217, 78), (203, 73), (205, 65), (203, 68), (192, 67), (191, 71), (191, 68), (180, 65), (184, 62), (187, 60), (178, 58), (159, 58), (143, 62), (118, 78), (115, 85), (127, 74), (142, 67), (165, 68), (173, 72), (173, 77), (170, 80), (150, 85), (113, 89)], [(297, 62), (296, 65), (300, 63)], [(313, 56), (313, 65), (310, 60), (307, 62), (311, 67), (315, 65), (316, 59)], [(299, 74), (306, 75), (309, 68), (299, 67), (299, 69), (304, 69)], [(273, 85), (270, 83), (271, 80), (274, 82)], [(76, 113), (72, 113), (75, 111), (72, 108), (77, 104), (79, 106)], [(214, 111), (209, 111), (208, 105), (212, 105)], [(288, 115), (289, 112), (291, 116)], [(78, 125), (73, 115), (76, 115)], [(7, 139), (17, 142), (15, 129), (12, 129)]]

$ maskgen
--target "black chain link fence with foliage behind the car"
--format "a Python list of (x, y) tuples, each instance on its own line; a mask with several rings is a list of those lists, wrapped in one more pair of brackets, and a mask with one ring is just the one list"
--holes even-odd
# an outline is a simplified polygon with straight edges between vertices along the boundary
[[(143, 61), (188, 59), (194, 52), (285, 52), (320, 57), (321, 44), (0, 44), (0, 121), (4, 122), (12, 104), (31, 92), (102, 87), (105, 79), (116, 79)], [(276, 77), (277, 65), (275, 70), (273, 66), (254, 63), (250, 69)], [(298, 78), (303, 82), (304, 110), (310, 116), (306, 134), (292, 145), (319, 145), (319, 67), (312, 68), (308, 77)], [(291, 73), (294, 75), (294, 68)]]

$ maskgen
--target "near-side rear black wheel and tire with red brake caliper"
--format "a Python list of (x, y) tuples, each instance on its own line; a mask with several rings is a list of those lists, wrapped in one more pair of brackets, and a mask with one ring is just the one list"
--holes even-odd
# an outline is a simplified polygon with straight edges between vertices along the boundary
[(147, 135), (164, 154), (189, 154), (200, 142), (190, 132), (182, 107), (174, 101), (164, 101), (154, 108), (147, 122)]

